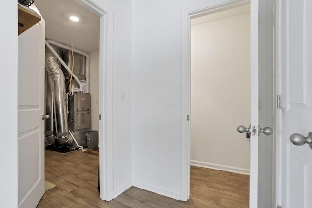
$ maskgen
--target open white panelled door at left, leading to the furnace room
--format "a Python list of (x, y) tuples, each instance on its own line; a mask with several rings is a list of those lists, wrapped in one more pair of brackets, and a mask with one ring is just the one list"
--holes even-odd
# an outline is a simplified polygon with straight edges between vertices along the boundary
[(43, 19), (18, 37), (18, 206), (21, 208), (36, 207), (44, 194), (44, 38)]

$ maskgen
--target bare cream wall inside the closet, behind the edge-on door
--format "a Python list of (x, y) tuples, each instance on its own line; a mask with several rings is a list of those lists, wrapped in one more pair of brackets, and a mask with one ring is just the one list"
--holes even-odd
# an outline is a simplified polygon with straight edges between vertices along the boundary
[(250, 100), (250, 14), (192, 26), (192, 165), (249, 174)]

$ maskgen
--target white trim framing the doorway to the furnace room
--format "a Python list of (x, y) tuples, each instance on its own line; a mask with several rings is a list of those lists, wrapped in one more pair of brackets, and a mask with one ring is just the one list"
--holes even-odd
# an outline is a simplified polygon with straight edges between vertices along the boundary
[(113, 199), (113, 12), (91, 0), (75, 0), (100, 17), (99, 40), (99, 148), (100, 198)]

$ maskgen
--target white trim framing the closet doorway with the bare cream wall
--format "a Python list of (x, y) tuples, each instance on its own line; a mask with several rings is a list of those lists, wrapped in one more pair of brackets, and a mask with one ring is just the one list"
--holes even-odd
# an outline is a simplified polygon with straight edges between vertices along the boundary
[(214, 0), (181, 12), (181, 189), (180, 200), (190, 198), (190, 19), (247, 5), (250, 0)]

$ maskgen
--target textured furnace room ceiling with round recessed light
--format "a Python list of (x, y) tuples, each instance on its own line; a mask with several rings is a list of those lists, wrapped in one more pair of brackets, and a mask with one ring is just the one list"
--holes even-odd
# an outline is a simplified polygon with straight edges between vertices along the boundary
[[(45, 20), (45, 37), (83, 52), (99, 50), (99, 17), (74, 0), (35, 0)], [(70, 16), (80, 21), (73, 22)]]

